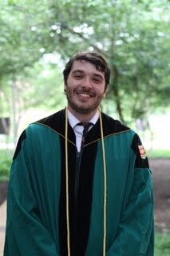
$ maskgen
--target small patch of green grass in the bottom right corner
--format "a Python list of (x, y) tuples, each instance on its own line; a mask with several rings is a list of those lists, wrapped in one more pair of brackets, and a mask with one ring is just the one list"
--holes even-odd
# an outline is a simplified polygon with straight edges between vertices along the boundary
[(170, 255), (170, 234), (155, 235), (155, 256), (169, 256)]

